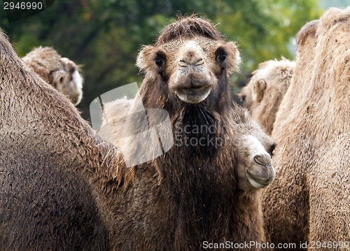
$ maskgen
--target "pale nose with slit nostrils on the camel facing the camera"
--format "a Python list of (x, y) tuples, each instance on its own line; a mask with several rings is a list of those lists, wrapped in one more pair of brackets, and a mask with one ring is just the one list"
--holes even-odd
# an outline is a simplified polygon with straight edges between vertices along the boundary
[(179, 59), (179, 66), (200, 66), (204, 64), (201, 48), (193, 41), (186, 43)]

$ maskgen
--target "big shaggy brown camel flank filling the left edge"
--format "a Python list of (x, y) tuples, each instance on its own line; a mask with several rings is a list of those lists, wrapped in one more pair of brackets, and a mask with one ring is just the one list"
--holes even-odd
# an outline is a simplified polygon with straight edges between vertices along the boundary
[(106, 250), (107, 218), (90, 173), (116, 150), (2, 31), (0, 76), (0, 250)]

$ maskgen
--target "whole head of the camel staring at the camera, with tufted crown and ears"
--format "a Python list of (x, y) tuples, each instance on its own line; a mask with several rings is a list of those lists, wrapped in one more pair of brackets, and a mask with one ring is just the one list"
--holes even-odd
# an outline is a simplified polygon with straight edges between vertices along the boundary
[(185, 18), (165, 29), (155, 45), (145, 46), (137, 66), (169, 99), (200, 103), (218, 100), (239, 60), (235, 43), (225, 42), (209, 22)]

